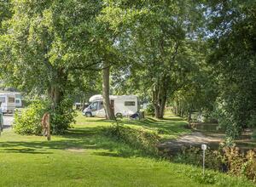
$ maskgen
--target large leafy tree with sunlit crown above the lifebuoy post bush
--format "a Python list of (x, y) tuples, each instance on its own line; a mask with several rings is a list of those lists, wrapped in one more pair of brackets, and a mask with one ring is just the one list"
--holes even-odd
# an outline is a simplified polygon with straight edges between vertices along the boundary
[(5, 78), (17, 88), (47, 93), (55, 109), (70, 85), (70, 75), (99, 62), (90, 58), (90, 28), (100, 3), (95, 1), (13, 1), (6, 22), (1, 60)]

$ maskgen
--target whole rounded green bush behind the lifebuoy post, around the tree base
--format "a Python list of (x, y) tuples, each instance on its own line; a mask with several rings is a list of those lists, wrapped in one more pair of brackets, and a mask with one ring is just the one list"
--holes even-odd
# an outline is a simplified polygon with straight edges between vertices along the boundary
[(50, 109), (48, 101), (33, 101), (26, 109), (15, 112), (15, 133), (35, 134), (42, 133), (41, 119), (45, 112), (49, 112), (50, 129), (53, 134), (64, 133), (70, 124), (74, 122), (76, 115), (72, 109), (72, 101), (64, 99), (55, 110)]

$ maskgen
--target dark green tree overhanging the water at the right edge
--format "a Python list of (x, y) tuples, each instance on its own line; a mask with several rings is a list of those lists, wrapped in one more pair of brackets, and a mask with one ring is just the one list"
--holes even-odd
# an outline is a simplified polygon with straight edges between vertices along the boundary
[(256, 124), (256, 3), (216, 0), (207, 6), (218, 119), (234, 138)]

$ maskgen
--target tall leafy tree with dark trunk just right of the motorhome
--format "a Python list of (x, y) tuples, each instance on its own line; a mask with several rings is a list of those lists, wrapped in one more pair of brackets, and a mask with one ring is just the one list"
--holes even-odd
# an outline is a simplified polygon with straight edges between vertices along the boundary
[[(107, 3), (108, 7), (103, 9), (105, 19), (115, 31), (123, 31), (129, 37), (131, 58), (142, 70), (140, 75), (134, 74), (151, 90), (155, 117), (163, 118), (167, 98), (180, 86), (180, 80), (189, 70), (185, 46), (189, 35), (193, 35), (189, 19), (193, 17), (191, 10), (196, 10), (195, 4), (188, 6), (184, 1)], [(132, 70), (129, 73), (132, 74)]]

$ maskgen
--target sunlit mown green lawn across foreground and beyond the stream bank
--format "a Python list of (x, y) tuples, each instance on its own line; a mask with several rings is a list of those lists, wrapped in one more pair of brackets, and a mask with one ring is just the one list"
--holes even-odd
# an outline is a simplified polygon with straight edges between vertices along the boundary
[[(185, 122), (175, 116), (124, 123), (159, 132), (163, 139), (189, 133)], [(0, 186), (207, 186), (189, 177), (201, 173), (200, 168), (141, 156), (139, 150), (102, 135), (102, 127), (111, 124), (78, 116), (67, 134), (49, 142), (6, 130), (0, 137)], [(252, 185), (217, 175), (221, 186)]]

